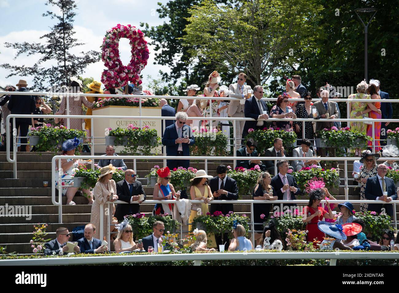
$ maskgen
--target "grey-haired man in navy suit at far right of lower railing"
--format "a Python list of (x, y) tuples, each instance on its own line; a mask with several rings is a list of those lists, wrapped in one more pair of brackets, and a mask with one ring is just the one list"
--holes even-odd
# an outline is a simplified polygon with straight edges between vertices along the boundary
[[(379, 164), (377, 167), (377, 175), (367, 179), (364, 195), (366, 199), (371, 201), (396, 201), (398, 198), (395, 183), (391, 178), (385, 177), (387, 175), (388, 167), (385, 164)], [(387, 192), (387, 195), (383, 193)], [(393, 217), (392, 205), (385, 205), (379, 203), (369, 203), (367, 208), (369, 211), (374, 211), (380, 214), (385, 210), (385, 213)]]

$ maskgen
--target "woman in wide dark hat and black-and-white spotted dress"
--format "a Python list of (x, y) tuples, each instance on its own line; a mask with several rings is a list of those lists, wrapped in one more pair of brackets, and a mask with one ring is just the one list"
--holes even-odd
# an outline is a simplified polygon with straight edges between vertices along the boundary
[[(360, 163), (363, 163), (364, 166), (360, 167), (359, 173), (354, 172), (354, 178), (356, 181), (360, 182), (360, 199), (367, 200), (364, 191), (366, 188), (367, 178), (373, 177), (377, 175), (377, 163), (375, 162), (376, 159), (379, 159), (380, 155), (377, 153), (366, 153), (363, 152), (361, 154), (361, 159), (359, 160)], [(358, 176), (356, 176), (358, 174)], [(357, 178), (356, 178), (357, 177)], [(362, 203), (360, 205), (360, 212), (367, 212), (367, 203)]]

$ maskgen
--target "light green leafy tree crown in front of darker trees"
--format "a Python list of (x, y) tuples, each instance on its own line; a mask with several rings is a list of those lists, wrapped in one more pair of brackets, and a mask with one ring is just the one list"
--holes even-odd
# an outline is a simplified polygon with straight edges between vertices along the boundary
[(315, 22), (322, 6), (307, 0), (248, 0), (234, 7), (204, 0), (188, 12), (182, 40), (192, 58), (229, 73), (244, 71), (257, 85), (314, 54), (321, 33)]

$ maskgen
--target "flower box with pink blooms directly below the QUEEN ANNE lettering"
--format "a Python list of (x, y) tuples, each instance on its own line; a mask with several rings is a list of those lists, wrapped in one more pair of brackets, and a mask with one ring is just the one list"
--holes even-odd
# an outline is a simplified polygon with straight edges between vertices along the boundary
[(108, 129), (108, 138), (105, 137), (106, 144), (113, 142), (114, 146), (124, 146), (121, 153), (150, 155), (151, 151), (156, 153), (156, 148), (161, 145), (156, 129), (150, 129), (148, 125), (142, 129), (134, 127), (133, 124), (129, 124), (127, 128)]

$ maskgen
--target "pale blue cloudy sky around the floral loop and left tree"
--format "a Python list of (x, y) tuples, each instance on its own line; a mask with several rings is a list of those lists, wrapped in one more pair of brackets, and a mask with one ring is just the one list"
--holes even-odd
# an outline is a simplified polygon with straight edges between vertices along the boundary
[[(117, 24), (131, 24), (140, 28), (140, 22), (147, 22), (150, 26), (162, 24), (164, 20), (158, 18), (157, 3), (167, 3), (168, 0), (80, 0), (76, 1), (78, 10), (75, 16), (75, 38), (85, 45), (76, 47), (76, 53), (81, 51), (100, 51), (105, 31)], [(39, 42), (39, 37), (49, 31), (49, 27), (56, 23), (49, 17), (42, 17), (45, 11), (58, 12), (52, 6), (45, 6), (45, 0), (0, 0), (1, 26), (0, 26), (0, 64), (31, 66), (38, 56), (18, 57), (13, 60), (15, 51), (5, 48), (4, 42)], [(147, 41), (149, 39), (147, 38)], [(120, 55), (123, 64), (130, 60), (130, 47), (127, 39), (120, 41)], [(158, 71), (168, 71), (168, 67), (154, 65), (154, 49), (150, 46), (150, 59), (142, 70), (143, 85), (146, 86), (146, 77), (158, 76)], [(102, 61), (89, 65), (84, 77), (93, 77), (100, 80), (101, 72), (106, 69)], [(0, 69), (0, 85), (8, 83), (16, 84), (18, 80), (26, 79), (28, 83), (31, 77), (10, 77), (6, 79), (7, 71)]]

